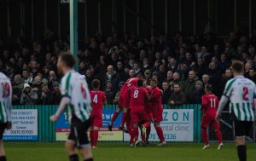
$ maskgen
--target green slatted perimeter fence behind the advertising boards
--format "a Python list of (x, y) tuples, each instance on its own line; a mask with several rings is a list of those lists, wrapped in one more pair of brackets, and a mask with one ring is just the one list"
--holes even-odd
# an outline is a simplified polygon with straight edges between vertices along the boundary
[[(116, 109), (116, 105), (104, 106), (104, 109)], [(54, 114), (57, 106), (13, 106), (13, 109), (38, 109), (38, 141), (55, 142), (55, 123), (49, 121), (49, 116)], [(201, 111), (200, 105), (187, 104), (183, 106), (164, 105), (164, 109), (194, 109), (194, 142), (201, 141)]]

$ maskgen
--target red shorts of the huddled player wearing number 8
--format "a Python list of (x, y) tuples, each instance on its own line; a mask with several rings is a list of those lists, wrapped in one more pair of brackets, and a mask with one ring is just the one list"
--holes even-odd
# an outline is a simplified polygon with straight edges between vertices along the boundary
[(131, 122), (139, 123), (143, 121), (148, 121), (148, 115), (145, 112), (144, 108), (131, 108)]

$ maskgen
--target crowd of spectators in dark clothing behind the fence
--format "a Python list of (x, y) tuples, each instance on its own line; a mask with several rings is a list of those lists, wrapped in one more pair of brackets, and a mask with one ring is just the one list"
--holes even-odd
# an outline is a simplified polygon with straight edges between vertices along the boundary
[[(244, 76), (256, 82), (256, 31), (243, 35), (239, 28), (223, 40), (212, 32), (201, 37), (137, 37), (132, 33), (108, 37), (85, 36), (79, 42), (79, 73), (91, 81), (101, 81), (108, 104), (117, 103), (119, 89), (128, 78), (143, 73), (147, 82), (158, 80), (165, 104), (201, 103), (204, 86), (212, 84), (212, 93), (221, 96), (225, 83), (232, 78), (230, 64), (241, 60)], [(0, 38), (0, 72), (12, 81), (14, 105), (58, 104), (61, 76), (57, 73), (57, 58), (69, 50), (67, 40), (55, 40), (47, 30), (40, 41), (18, 37), (15, 43)]]

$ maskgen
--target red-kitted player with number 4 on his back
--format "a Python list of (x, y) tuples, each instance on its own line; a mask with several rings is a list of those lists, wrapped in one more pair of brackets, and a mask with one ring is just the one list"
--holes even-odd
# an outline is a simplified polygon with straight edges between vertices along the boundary
[(99, 90), (100, 81), (94, 79), (91, 82), (92, 90), (90, 90), (91, 114), (90, 114), (90, 146), (96, 148), (99, 129), (102, 127), (102, 106), (107, 104), (106, 95)]

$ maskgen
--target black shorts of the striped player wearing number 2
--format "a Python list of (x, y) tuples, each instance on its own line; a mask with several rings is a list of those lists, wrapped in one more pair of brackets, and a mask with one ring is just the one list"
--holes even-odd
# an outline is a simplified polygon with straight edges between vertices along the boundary
[(249, 135), (253, 122), (249, 121), (234, 121), (235, 138), (241, 138)]

